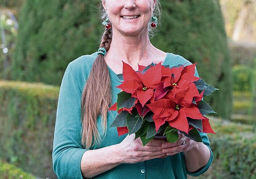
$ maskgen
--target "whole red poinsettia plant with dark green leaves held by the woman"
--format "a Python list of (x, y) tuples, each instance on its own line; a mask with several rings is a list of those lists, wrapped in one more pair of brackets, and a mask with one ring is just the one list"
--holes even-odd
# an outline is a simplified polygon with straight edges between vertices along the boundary
[(218, 89), (194, 76), (195, 66), (178, 65), (170, 68), (159, 64), (138, 65), (138, 71), (123, 62), (122, 83), (117, 102), (110, 110), (118, 115), (110, 125), (118, 135), (135, 133), (146, 145), (156, 135), (167, 141), (178, 140), (178, 131), (190, 139), (202, 142), (199, 131), (214, 133), (204, 115), (215, 113), (202, 100)]

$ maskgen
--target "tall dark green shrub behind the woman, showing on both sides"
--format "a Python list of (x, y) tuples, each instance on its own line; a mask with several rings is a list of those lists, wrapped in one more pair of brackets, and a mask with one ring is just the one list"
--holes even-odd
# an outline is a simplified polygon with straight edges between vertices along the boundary
[[(12, 64), (12, 78), (59, 85), (67, 64), (98, 49), (102, 32), (99, 1), (26, 0)], [(198, 62), (200, 76), (220, 88), (206, 101), (229, 118), (232, 108), (228, 46), (218, 0), (162, 1), (161, 50)], [(47, 12), (47, 13), (45, 13)]]

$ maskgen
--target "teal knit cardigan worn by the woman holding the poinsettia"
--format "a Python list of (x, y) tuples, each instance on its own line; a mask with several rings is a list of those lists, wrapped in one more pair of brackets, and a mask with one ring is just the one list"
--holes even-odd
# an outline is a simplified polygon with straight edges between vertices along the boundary
[[(88, 149), (81, 146), (81, 119), (80, 105), (81, 94), (84, 84), (88, 78), (96, 53), (80, 58), (71, 62), (64, 74), (60, 87), (58, 108), (56, 115), (56, 127), (53, 143), (53, 169), (59, 179), (82, 179), (80, 162), (83, 153)], [(162, 65), (176, 66), (178, 64), (191, 64), (181, 56), (167, 53)], [(112, 103), (117, 100), (117, 94), (120, 85), (117, 75), (109, 68), (111, 86), (112, 86)], [(197, 72), (195, 74), (198, 76)], [(116, 111), (109, 111), (107, 125), (110, 126)], [(98, 119), (98, 129), (103, 137), (100, 117)], [(210, 145), (205, 133), (201, 133), (203, 143), (208, 147)], [(116, 127), (108, 127), (106, 136), (101, 143), (93, 149), (99, 149), (120, 143), (126, 135), (118, 137)], [(210, 147), (209, 147), (210, 148)], [(204, 173), (212, 163), (213, 155), (211, 151), (210, 160), (207, 165), (197, 173), (186, 171), (184, 153), (178, 153), (168, 156), (164, 159), (152, 159), (136, 164), (121, 164), (113, 169), (106, 171), (93, 179), (186, 179), (187, 174), (198, 176)]]

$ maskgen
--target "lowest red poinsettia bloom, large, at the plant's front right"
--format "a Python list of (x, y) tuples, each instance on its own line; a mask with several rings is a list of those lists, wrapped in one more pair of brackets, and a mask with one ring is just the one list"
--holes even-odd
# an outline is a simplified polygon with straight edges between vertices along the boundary
[(202, 99), (195, 84), (182, 81), (179, 86), (168, 92), (164, 97), (165, 99), (159, 99), (147, 104), (154, 113), (153, 119), (156, 125), (156, 131), (168, 121), (170, 126), (188, 133), (187, 117), (205, 119), (197, 108), (197, 105), (192, 103), (194, 97)]

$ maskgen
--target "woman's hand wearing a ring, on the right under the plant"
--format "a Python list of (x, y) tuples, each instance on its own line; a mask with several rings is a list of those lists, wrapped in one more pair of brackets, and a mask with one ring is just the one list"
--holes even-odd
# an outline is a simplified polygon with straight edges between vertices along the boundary
[(175, 155), (180, 152), (186, 152), (191, 150), (196, 146), (196, 142), (191, 140), (188, 137), (185, 137), (184, 134), (179, 133), (179, 139), (174, 142), (164, 142), (162, 143), (162, 152), (166, 153), (166, 155)]

